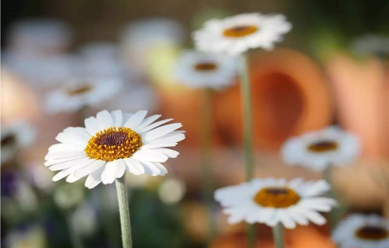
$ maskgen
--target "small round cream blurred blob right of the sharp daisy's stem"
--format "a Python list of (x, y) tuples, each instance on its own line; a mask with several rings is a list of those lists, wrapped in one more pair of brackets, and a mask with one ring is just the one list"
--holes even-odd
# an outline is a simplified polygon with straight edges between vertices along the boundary
[(163, 203), (173, 205), (178, 203), (186, 193), (185, 182), (179, 179), (168, 178), (159, 185), (159, 199)]

